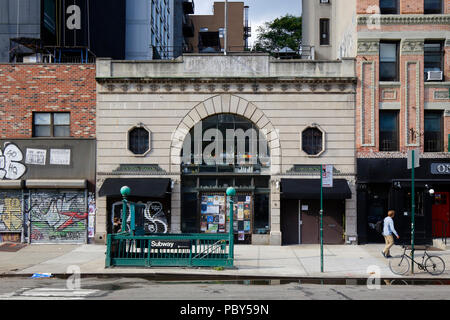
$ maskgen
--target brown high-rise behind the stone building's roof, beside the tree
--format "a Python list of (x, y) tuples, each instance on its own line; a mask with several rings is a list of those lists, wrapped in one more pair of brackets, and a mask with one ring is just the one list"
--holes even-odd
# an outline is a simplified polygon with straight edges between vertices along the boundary
[[(228, 2), (227, 51), (242, 52), (248, 45), (248, 6)], [(188, 41), (195, 53), (222, 52), (225, 48), (225, 2), (214, 2), (212, 15), (191, 15), (194, 36)]]

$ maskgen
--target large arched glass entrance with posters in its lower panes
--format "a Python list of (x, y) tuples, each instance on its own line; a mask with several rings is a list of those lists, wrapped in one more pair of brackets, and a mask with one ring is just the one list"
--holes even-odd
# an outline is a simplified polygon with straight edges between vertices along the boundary
[(270, 233), (270, 151), (252, 121), (231, 113), (198, 121), (181, 152), (181, 231), (229, 232), (225, 191), (235, 187), (236, 243)]

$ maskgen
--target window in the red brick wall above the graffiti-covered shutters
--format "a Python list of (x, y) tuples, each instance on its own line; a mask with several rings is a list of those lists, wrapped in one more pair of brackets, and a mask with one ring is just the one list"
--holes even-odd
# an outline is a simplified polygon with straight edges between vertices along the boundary
[(33, 137), (70, 137), (70, 113), (33, 113)]

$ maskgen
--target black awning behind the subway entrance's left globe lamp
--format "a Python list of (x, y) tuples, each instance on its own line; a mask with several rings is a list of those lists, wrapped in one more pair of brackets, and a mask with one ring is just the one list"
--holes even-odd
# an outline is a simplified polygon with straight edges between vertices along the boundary
[(130, 196), (164, 198), (169, 188), (169, 178), (108, 178), (103, 183), (98, 195), (121, 197), (120, 189), (128, 186)]

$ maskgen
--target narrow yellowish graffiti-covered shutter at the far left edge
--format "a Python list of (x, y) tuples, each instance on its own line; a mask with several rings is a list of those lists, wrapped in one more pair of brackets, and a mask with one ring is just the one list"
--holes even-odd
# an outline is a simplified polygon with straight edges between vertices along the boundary
[(22, 226), (22, 191), (1, 191), (0, 233), (21, 233)]

